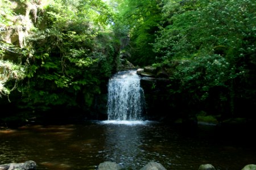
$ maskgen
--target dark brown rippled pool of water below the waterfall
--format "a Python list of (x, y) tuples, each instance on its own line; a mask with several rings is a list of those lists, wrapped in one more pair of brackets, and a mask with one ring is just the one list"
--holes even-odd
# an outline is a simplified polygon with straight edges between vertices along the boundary
[(122, 125), (95, 121), (2, 128), (0, 164), (34, 160), (39, 170), (97, 169), (106, 160), (124, 169), (140, 169), (150, 161), (172, 170), (197, 170), (206, 163), (232, 170), (256, 164), (256, 147), (250, 137), (243, 142), (224, 139), (213, 135), (214, 128), (200, 125), (193, 135), (157, 122)]

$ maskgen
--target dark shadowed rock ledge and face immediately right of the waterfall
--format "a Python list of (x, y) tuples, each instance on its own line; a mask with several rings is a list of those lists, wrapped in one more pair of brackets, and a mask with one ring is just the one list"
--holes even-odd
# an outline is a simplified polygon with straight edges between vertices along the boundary
[(178, 63), (175, 62), (171, 66), (146, 66), (137, 70), (137, 74), (142, 76), (141, 87), (146, 105), (144, 117), (148, 120), (173, 123), (182, 120), (182, 126), (185, 129), (195, 130), (197, 120), (194, 114), (191, 116), (189, 114), (191, 111), (188, 111), (183, 104), (175, 103), (176, 99), (184, 101), (177, 91), (179, 83), (170, 79), (177, 65)]

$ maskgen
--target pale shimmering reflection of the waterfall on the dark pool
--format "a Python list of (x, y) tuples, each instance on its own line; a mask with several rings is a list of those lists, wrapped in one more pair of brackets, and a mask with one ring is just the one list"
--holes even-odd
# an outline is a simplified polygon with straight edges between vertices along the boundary
[(141, 128), (129, 125), (108, 125), (105, 129), (106, 160), (121, 164), (123, 167), (134, 167), (134, 162), (142, 156), (143, 138)]

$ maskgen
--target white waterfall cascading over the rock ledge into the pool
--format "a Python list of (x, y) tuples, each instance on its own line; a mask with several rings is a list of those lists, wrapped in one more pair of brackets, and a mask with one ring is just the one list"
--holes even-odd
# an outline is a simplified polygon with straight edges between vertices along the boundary
[(144, 94), (136, 70), (119, 71), (108, 83), (108, 120), (141, 121)]

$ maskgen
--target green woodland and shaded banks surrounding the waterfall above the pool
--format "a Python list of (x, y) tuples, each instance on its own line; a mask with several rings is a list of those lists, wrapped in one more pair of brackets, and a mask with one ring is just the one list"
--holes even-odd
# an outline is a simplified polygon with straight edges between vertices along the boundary
[(0, 123), (103, 120), (109, 77), (144, 66), (168, 79), (164, 117), (255, 121), (255, 6), (0, 0)]

